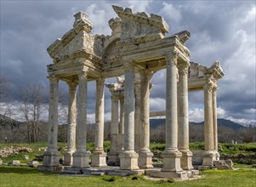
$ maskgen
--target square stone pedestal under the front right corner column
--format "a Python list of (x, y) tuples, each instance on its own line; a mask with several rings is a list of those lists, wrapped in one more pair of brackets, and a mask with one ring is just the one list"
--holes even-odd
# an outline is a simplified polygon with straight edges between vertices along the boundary
[(162, 172), (181, 172), (180, 158), (182, 156), (179, 150), (164, 150), (161, 154), (163, 158)]

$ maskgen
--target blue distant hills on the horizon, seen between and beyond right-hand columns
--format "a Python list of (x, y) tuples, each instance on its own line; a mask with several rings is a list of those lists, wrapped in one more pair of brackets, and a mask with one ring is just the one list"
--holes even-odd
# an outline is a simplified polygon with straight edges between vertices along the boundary
[[(151, 128), (156, 128), (159, 125), (165, 124), (165, 119), (151, 119)], [(203, 125), (204, 122), (190, 122), (190, 125)], [(239, 130), (244, 128), (244, 126), (236, 123), (236, 122), (232, 122), (230, 120), (225, 120), (225, 119), (218, 119), (218, 126), (219, 127), (230, 127), (234, 130)]]

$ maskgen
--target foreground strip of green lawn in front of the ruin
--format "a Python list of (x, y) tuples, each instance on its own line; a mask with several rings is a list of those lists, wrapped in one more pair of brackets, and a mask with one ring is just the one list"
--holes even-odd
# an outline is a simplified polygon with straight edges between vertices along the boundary
[(207, 170), (201, 173), (206, 177), (174, 182), (168, 180), (146, 180), (141, 176), (121, 178), (117, 176), (66, 177), (59, 173), (40, 172), (31, 167), (0, 166), (0, 186), (256, 186), (256, 171), (239, 170)]

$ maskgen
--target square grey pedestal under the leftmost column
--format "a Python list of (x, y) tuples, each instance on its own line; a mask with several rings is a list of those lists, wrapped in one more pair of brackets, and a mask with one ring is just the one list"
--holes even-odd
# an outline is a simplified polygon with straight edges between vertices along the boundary
[(60, 165), (60, 152), (58, 150), (46, 150), (43, 154), (43, 167), (57, 167)]

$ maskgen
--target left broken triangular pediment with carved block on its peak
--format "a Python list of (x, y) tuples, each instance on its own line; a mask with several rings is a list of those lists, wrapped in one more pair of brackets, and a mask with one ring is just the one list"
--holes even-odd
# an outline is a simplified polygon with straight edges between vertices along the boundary
[(88, 15), (79, 12), (74, 17), (73, 29), (66, 32), (47, 49), (48, 54), (54, 59), (54, 63), (72, 58), (72, 56), (77, 57), (77, 55), (79, 57), (95, 55), (100, 58), (104, 53), (105, 37), (89, 34), (93, 24), (88, 20)]

